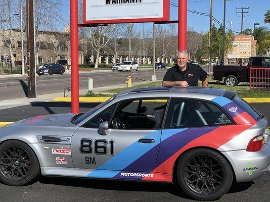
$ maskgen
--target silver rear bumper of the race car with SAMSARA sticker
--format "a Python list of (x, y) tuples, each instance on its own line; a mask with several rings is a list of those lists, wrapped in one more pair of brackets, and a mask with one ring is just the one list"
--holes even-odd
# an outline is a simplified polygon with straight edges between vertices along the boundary
[(237, 182), (253, 181), (270, 172), (270, 141), (259, 151), (222, 151), (222, 154), (233, 166)]

